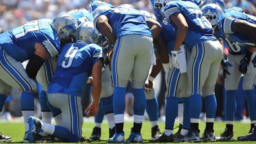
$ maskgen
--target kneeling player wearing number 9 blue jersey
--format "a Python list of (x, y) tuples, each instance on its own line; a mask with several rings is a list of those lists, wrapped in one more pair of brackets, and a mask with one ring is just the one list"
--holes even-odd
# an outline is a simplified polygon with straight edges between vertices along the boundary
[(77, 33), (79, 41), (62, 47), (52, 82), (48, 85), (48, 101), (62, 111), (63, 126), (54, 126), (30, 117), (28, 118), (29, 142), (35, 142), (37, 133), (42, 131), (63, 142), (80, 141), (83, 123), (81, 95), (90, 75), (92, 75), (93, 101), (86, 112), (89, 112), (87, 117), (97, 114), (101, 95), (101, 70), (105, 55), (101, 47), (93, 44), (97, 43), (98, 35), (83, 33), (82, 29), (88, 25), (93, 27), (92, 22), (79, 25)]

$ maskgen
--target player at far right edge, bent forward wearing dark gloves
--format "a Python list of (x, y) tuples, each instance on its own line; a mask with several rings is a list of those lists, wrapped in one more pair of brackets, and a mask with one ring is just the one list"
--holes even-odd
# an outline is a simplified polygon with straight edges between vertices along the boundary
[[(247, 98), (247, 106), (251, 119), (251, 129), (249, 133), (253, 132), (256, 123), (255, 92), (253, 90), (256, 71), (254, 64), (250, 63), (250, 60), (254, 59), (256, 54), (255, 36), (252, 34), (255, 29), (256, 18), (232, 9), (222, 14), (223, 12), (220, 7), (214, 4), (205, 5), (202, 7), (202, 11), (214, 26), (215, 36), (225, 42), (229, 49), (227, 60), (222, 60), (226, 89), (226, 128), (216, 139), (234, 139), (235, 96), (237, 94), (241, 74), (244, 74), (242, 88)], [(246, 137), (238, 137), (238, 140), (256, 140), (256, 135), (252, 134)]]

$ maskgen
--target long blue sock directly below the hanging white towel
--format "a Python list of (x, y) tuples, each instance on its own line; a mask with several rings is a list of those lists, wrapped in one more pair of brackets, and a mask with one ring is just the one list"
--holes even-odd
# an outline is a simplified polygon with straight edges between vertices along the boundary
[(165, 128), (173, 129), (175, 118), (178, 115), (178, 98), (167, 97), (165, 107)]

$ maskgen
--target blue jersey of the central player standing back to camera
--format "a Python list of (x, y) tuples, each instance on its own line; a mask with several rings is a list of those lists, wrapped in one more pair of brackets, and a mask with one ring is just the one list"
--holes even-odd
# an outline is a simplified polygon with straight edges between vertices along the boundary
[[(123, 8), (109, 9), (100, 12), (98, 16), (100, 15), (107, 16), (108, 23), (112, 27), (113, 33), (117, 38), (128, 34), (140, 34), (152, 37), (151, 31), (146, 24), (144, 14), (138, 12), (138, 10), (128, 10)], [(94, 24), (97, 23), (97, 17), (94, 18)], [(98, 25), (96, 25), (96, 30), (100, 32)]]

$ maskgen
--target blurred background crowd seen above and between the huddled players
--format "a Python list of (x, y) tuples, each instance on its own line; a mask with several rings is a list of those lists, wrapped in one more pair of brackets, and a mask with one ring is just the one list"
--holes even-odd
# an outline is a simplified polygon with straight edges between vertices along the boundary
[[(135, 9), (145, 10), (153, 13), (149, 0), (102, 0), (104, 2), (110, 3), (113, 6), (119, 6), (121, 4), (131, 4)], [(247, 14), (256, 15), (256, 0), (224, 0), (226, 9), (229, 7), (237, 6), (241, 7)], [(61, 12), (68, 12), (74, 9), (86, 9), (87, 4), (90, 0), (0, 0), (0, 32), (5, 32), (23, 25), (26, 21), (32, 21), (42, 18), (54, 18)], [(228, 54), (228, 53), (226, 53)], [(160, 86), (159, 86), (160, 87)], [(165, 87), (165, 86), (161, 86)], [(236, 112), (236, 120), (243, 119), (246, 116), (246, 100), (245, 96), (241, 90), (238, 92), (237, 102), (238, 110)], [(162, 90), (165, 91), (165, 90)], [(15, 91), (14, 91), (15, 92)], [(215, 87), (215, 93), (217, 98), (217, 112), (216, 117), (219, 120), (223, 120), (223, 103), (224, 103), (224, 78), (220, 70), (220, 74)], [(158, 103), (159, 111), (164, 111), (164, 96), (161, 97), (163, 92), (159, 90)], [(14, 93), (12, 101), (18, 103), (19, 96)], [(239, 99), (239, 100), (238, 100)], [(132, 101), (130, 95), (127, 100)], [(11, 111), (13, 116), (20, 116), (21, 112), (17, 110), (12, 110), (12, 105), (9, 105), (10, 98), (5, 106), (5, 111)], [(128, 102), (129, 104), (130, 102)], [(16, 105), (15, 104), (15, 105)], [(127, 104), (127, 105), (128, 105)], [(240, 104), (240, 105), (239, 105)], [(131, 105), (131, 103), (129, 104)], [(16, 105), (17, 108), (19, 106)], [(161, 109), (163, 108), (163, 109)], [(129, 113), (129, 110), (126, 110)], [(203, 109), (204, 111), (204, 109)], [(203, 115), (202, 111), (202, 117)], [(38, 112), (39, 113), (39, 112)], [(129, 113), (129, 115), (132, 115)], [(160, 112), (159, 116), (163, 116), (164, 113)], [(10, 119), (10, 115), (6, 116), (6, 119)], [(202, 118), (203, 119), (203, 118)]]

